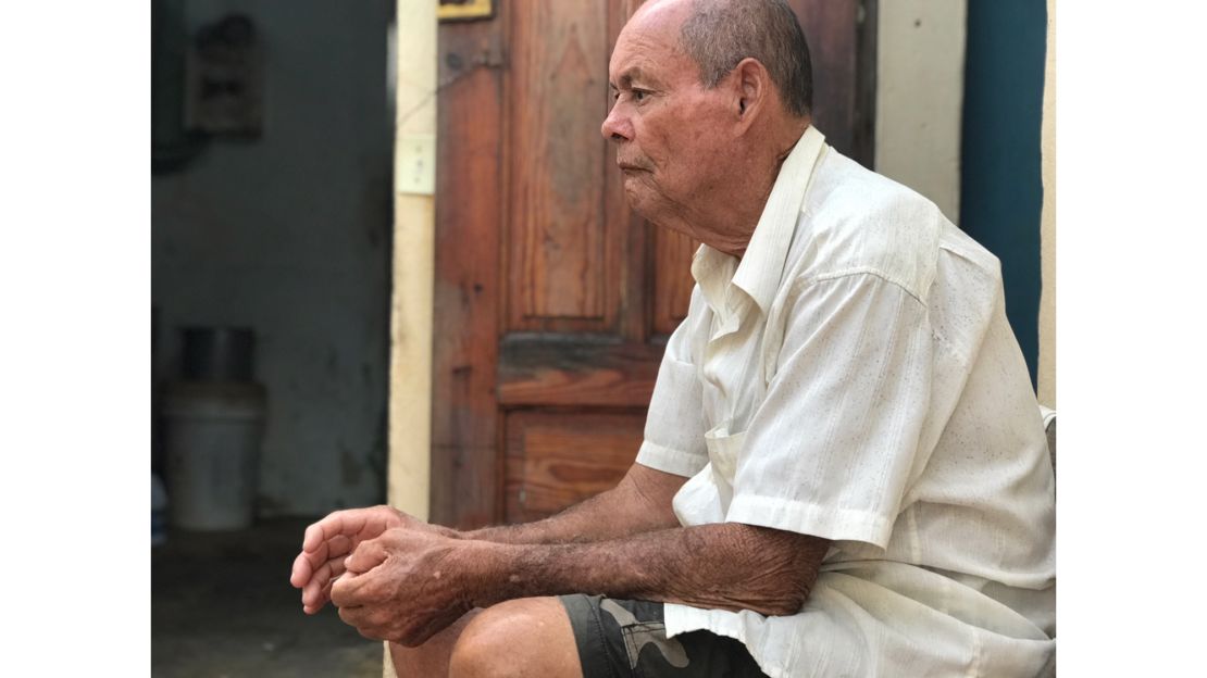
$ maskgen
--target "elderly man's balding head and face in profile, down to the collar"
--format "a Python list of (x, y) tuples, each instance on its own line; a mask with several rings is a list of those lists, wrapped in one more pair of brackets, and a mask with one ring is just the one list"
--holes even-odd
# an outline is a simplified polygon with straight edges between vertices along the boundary
[(617, 36), (600, 125), (632, 210), (734, 256), (809, 124), (809, 48), (782, 0), (651, 0)]

